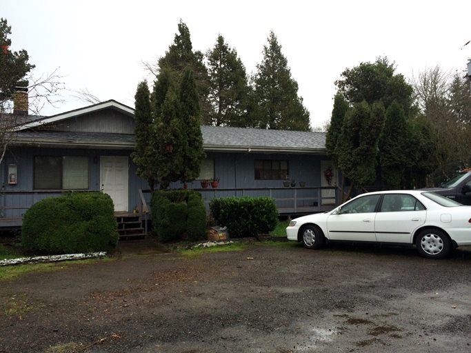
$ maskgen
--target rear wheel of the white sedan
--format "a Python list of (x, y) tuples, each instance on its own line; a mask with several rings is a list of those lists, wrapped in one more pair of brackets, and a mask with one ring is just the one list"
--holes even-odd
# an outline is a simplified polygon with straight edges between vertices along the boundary
[(419, 254), (428, 259), (443, 259), (452, 249), (450, 238), (441, 230), (422, 230), (417, 236), (415, 245)]

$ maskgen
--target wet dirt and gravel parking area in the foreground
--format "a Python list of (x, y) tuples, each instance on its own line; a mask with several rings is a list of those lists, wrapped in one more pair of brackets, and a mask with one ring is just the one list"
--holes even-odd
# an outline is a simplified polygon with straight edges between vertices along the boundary
[(471, 351), (470, 247), (120, 251), (1, 281), (0, 352)]

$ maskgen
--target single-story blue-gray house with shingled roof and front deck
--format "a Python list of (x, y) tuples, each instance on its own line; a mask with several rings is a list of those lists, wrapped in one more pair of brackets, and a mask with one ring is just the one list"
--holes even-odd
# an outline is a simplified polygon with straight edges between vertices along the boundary
[[(324, 133), (217, 126), (201, 126), (201, 132), (207, 158), (200, 178), (188, 188), (199, 189), (207, 206), (214, 196), (272, 196), (280, 214), (288, 215), (320, 212), (337, 203), (337, 172), (325, 154)], [(134, 110), (114, 100), (28, 117), (0, 165), (3, 224), (21, 224), (30, 205), (65, 190), (106, 192), (115, 212), (140, 209), (139, 190), (146, 202), (150, 190), (136, 175), (133, 150)], [(334, 171), (333, 178), (327, 170)], [(217, 189), (201, 188), (200, 179), (214, 178), (219, 178)], [(292, 180), (296, 187), (283, 185)]]

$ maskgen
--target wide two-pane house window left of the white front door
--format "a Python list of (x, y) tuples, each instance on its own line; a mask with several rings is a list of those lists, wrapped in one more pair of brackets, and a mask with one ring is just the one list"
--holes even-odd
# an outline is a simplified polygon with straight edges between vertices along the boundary
[(88, 189), (88, 157), (34, 157), (34, 189)]

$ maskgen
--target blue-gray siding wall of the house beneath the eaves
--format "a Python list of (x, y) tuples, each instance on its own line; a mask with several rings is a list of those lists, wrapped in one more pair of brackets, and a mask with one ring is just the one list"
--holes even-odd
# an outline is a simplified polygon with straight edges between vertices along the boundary
[[(119, 150), (81, 150), (81, 149), (52, 149), (52, 148), (14, 148), (10, 150), (0, 165), (0, 183), (5, 183), (6, 191), (21, 191), (17, 194), (3, 194), (0, 196), (0, 205), (3, 207), (29, 207), (33, 203), (47, 196), (58, 196), (59, 192), (34, 192), (33, 190), (33, 163), (34, 156), (85, 156), (89, 159), (90, 175), (89, 190), (100, 190), (100, 156), (127, 156), (128, 168), (128, 211), (132, 211), (136, 205), (140, 205), (138, 190), (149, 190), (146, 180), (136, 175), (137, 165), (130, 158), (131, 151)], [(98, 163), (94, 163), (97, 157)], [(308, 188), (283, 188), (281, 180), (255, 180), (254, 161), (256, 159), (288, 160), (290, 179), (297, 182), (305, 181), (306, 187), (321, 186), (321, 160), (327, 160), (325, 156), (293, 155), (293, 154), (235, 154), (235, 153), (208, 153), (208, 158), (214, 159), (214, 172), (219, 180), (217, 190), (218, 197), (234, 196), (234, 190), (223, 190), (224, 188), (257, 188), (243, 192), (237, 190), (235, 196), (271, 196), (276, 199), (292, 198), (294, 192), (298, 197), (306, 198), (305, 205), (312, 205), (318, 201), (318, 190)], [(8, 185), (8, 165), (17, 165), (17, 185)], [(298, 184), (299, 185), (299, 184)], [(182, 188), (179, 182), (172, 183), (172, 188)], [(190, 189), (201, 189), (200, 181), (188, 183)], [(273, 189), (274, 188), (274, 189)], [(202, 192), (203, 198), (208, 205), (210, 199), (216, 194), (214, 190), (208, 188)], [(146, 201), (149, 204), (150, 194), (145, 193)], [(287, 205), (290, 201), (286, 201)], [(282, 203), (280, 205), (283, 205)], [(3, 216), (21, 217), (26, 208), (6, 209)]]

